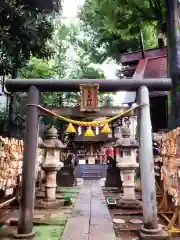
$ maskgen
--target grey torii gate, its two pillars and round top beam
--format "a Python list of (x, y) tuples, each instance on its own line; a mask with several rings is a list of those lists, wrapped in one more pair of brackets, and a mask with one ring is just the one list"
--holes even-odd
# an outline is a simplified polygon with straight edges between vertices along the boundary
[[(98, 84), (101, 92), (136, 91), (138, 96), (139, 121), (139, 161), (141, 169), (144, 226), (143, 239), (164, 239), (162, 228), (158, 226), (154, 162), (152, 150), (152, 128), (149, 107), (149, 91), (167, 91), (172, 82), (160, 79), (119, 79), (119, 80), (49, 80), (12, 79), (5, 83), (9, 92), (28, 92), (24, 156), (22, 170), (22, 190), (17, 238), (33, 236), (33, 210), (35, 198), (35, 165), (37, 130), (40, 112), (40, 92), (78, 92), (80, 84)], [(158, 104), (158, 103), (157, 103)]]

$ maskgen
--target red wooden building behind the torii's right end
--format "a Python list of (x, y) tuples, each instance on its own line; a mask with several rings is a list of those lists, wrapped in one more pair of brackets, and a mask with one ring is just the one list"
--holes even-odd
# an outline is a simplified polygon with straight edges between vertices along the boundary
[[(166, 78), (167, 54), (166, 47), (120, 55), (119, 61), (125, 67), (123, 74), (128, 78)], [(134, 94), (134, 100), (136, 93)], [(133, 99), (132, 99), (133, 101)], [(150, 93), (151, 120), (153, 132), (168, 126), (168, 92)]]

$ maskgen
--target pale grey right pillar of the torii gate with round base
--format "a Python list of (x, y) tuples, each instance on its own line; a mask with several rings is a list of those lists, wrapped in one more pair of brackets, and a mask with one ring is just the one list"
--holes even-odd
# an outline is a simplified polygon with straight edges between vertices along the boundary
[(142, 86), (138, 91), (139, 104), (139, 163), (143, 199), (144, 227), (141, 239), (166, 239), (167, 234), (158, 226), (155, 174), (152, 146), (152, 126), (149, 107), (149, 91)]

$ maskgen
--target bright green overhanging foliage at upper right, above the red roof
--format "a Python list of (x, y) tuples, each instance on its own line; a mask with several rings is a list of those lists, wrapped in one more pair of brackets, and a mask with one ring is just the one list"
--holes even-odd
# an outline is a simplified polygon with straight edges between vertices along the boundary
[(154, 47), (155, 35), (165, 19), (163, 0), (86, 0), (79, 16), (87, 41), (86, 52), (96, 62), (140, 48)]

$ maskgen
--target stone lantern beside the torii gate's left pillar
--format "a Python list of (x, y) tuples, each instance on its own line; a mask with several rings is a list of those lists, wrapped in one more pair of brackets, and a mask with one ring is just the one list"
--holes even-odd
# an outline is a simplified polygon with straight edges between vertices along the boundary
[(60, 153), (63, 149), (66, 149), (66, 145), (58, 139), (58, 131), (54, 126), (47, 130), (43, 148), (44, 163), (42, 169), (46, 174), (45, 199), (54, 201), (56, 200), (56, 175), (64, 165), (60, 161)]

